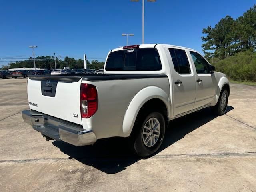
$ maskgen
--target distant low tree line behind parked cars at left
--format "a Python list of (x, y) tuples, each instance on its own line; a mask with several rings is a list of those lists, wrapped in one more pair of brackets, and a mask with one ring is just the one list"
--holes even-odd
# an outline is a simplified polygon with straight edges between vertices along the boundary
[[(55, 69), (54, 57), (53, 56), (40, 56), (36, 57), (36, 68), (42, 69)], [(103, 69), (104, 62), (99, 62), (98, 60), (92, 60), (91, 62), (86, 60), (87, 67), (89, 69)], [(32, 57), (24, 61), (11, 62), (7, 66), (3, 66), (2, 69), (8, 68), (20, 68), (20, 67), (30, 67), (34, 68), (34, 60)], [(74, 59), (70, 57), (65, 57), (64, 60), (56, 58), (56, 68), (63, 69), (64, 67), (69, 67), (70, 69), (82, 69), (84, 68), (84, 60)]]

